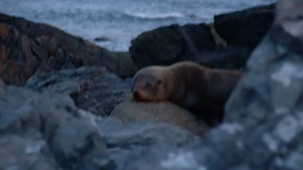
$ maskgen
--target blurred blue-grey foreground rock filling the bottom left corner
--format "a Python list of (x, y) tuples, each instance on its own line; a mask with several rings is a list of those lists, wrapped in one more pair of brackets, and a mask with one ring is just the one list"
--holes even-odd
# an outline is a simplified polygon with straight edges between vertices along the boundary
[(0, 169), (57, 170), (59, 165), (43, 139), (0, 137)]

